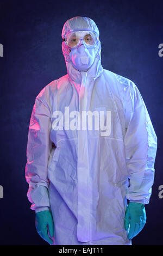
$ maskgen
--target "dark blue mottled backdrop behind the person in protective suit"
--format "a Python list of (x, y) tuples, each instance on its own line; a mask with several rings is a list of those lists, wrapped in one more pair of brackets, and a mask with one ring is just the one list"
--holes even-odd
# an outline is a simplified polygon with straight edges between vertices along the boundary
[(1, 167), (0, 245), (47, 245), (35, 229), (27, 199), (26, 148), (35, 97), (49, 82), (67, 74), (61, 31), (67, 19), (87, 16), (100, 32), (102, 66), (132, 80), (146, 103), (158, 151), (147, 223), (133, 245), (163, 245), (161, 1), (0, 1)]

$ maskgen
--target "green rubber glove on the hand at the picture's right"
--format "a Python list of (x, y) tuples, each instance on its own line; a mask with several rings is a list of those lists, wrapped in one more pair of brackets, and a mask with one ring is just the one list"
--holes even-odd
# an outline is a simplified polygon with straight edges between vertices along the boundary
[(133, 202), (128, 204), (124, 219), (124, 227), (126, 230), (129, 228), (129, 224), (130, 230), (128, 239), (133, 239), (134, 236), (140, 233), (146, 224), (145, 205)]

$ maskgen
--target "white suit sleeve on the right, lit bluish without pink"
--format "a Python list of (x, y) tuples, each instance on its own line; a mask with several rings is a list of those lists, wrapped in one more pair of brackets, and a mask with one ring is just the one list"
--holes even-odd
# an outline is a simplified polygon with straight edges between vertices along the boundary
[(124, 137), (130, 202), (148, 204), (154, 182), (157, 137), (145, 102), (133, 82), (126, 89), (126, 135)]

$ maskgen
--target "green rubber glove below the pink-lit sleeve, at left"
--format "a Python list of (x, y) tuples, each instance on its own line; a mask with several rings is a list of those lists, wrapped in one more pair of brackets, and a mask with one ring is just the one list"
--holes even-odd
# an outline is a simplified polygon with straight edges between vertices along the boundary
[[(50, 211), (40, 211), (36, 213), (35, 225), (37, 233), (52, 245), (53, 240), (49, 238), (54, 236), (53, 217)], [(49, 234), (49, 235), (48, 235)]]

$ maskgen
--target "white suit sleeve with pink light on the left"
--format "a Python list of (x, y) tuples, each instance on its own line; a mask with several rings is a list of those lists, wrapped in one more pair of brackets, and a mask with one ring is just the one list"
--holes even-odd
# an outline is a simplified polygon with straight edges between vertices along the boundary
[(32, 203), (30, 209), (36, 212), (50, 208), (47, 167), (52, 150), (52, 142), (49, 137), (51, 111), (48, 105), (41, 100), (42, 92), (40, 95), (36, 97), (30, 118), (26, 163), (26, 180), (29, 184), (27, 197)]

